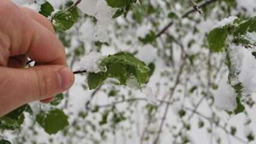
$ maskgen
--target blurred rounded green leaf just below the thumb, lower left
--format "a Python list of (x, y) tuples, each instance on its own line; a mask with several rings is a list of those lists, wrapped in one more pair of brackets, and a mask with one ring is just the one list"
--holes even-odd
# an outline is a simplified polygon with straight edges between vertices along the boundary
[(69, 117), (65, 115), (62, 110), (53, 109), (50, 112), (41, 112), (37, 115), (36, 121), (48, 134), (56, 134), (58, 131), (63, 130), (69, 122)]

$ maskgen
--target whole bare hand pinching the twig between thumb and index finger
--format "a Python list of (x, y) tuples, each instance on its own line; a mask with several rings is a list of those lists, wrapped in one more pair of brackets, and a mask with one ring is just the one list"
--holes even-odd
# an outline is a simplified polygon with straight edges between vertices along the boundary
[[(24, 68), (27, 58), (38, 66)], [(74, 82), (52, 24), (9, 0), (0, 4), (0, 117), (23, 104), (49, 103)]]

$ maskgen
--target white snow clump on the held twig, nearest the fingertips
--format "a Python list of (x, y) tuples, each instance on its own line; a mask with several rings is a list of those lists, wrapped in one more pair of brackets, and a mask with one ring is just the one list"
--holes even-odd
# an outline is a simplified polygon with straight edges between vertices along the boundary
[(99, 73), (105, 71), (105, 68), (100, 67), (100, 62), (105, 56), (99, 52), (91, 52), (81, 58), (79, 62), (79, 70), (86, 70), (91, 73)]

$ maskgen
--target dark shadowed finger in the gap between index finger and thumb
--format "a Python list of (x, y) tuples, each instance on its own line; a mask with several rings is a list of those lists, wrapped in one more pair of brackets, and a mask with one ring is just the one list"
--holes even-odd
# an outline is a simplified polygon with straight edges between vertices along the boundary
[(24, 68), (26, 66), (27, 58), (25, 55), (13, 56), (8, 60), (8, 67)]

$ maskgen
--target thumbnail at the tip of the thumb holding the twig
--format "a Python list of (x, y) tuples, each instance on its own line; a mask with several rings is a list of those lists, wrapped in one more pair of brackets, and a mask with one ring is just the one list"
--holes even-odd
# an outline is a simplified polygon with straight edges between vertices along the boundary
[(73, 73), (67, 67), (61, 68), (61, 70), (58, 71), (58, 79), (59, 86), (61, 86), (62, 89), (69, 89), (73, 85)]

